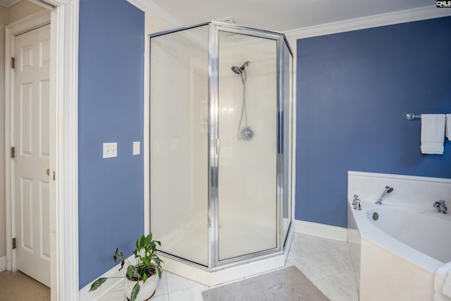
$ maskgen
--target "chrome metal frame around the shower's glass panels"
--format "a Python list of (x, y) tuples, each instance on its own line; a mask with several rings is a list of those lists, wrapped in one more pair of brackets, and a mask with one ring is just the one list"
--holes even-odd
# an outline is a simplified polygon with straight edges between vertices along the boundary
[[(246, 27), (242, 25), (235, 25), (231, 23), (223, 23), (223, 22), (217, 22), (217, 21), (210, 21), (206, 23), (199, 23), (196, 25), (190, 25), (185, 27), (178, 27), (173, 30), (166, 30), (163, 32), (156, 32), (152, 35), (149, 35), (150, 39), (152, 37), (159, 37), (161, 35), (170, 34), (173, 32), (179, 32), (182, 30), (189, 30), (194, 27), (199, 26), (209, 26), (209, 57), (208, 57), (208, 72), (209, 72), (209, 92), (208, 92), (208, 111), (209, 111), (209, 127), (208, 127), (208, 148), (209, 148), (209, 164), (208, 164), (208, 178), (209, 178), (209, 202), (208, 202), (208, 212), (209, 212), (209, 221), (208, 221), (208, 237), (209, 237), (209, 260), (208, 260), (208, 266), (204, 266), (202, 264), (198, 264), (195, 262), (192, 262), (190, 260), (174, 256), (172, 254), (168, 254), (166, 252), (161, 252), (164, 256), (169, 257), (171, 259), (176, 259), (178, 261), (184, 262), (185, 264), (189, 264), (191, 266), (195, 266), (200, 269), (205, 269), (207, 271), (218, 271), (221, 269), (226, 269), (230, 266), (236, 266), (240, 264), (246, 264), (249, 262), (254, 262), (260, 259), (265, 259), (268, 257), (273, 257), (277, 255), (284, 254), (285, 250), (288, 250), (291, 244), (292, 236), (294, 235), (294, 219), (292, 216), (292, 211), (294, 210), (294, 201), (292, 200), (291, 194), (292, 189), (289, 189), (289, 191), (284, 190), (284, 174), (285, 176), (288, 175), (288, 178), (291, 179), (292, 175), (292, 164), (289, 162), (288, 166), (285, 163), (285, 159), (289, 158), (290, 152), (292, 152), (292, 149), (285, 149), (286, 152), (284, 152), (284, 145), (283, 145), (283, 137), (284, 137), (284, 118), (288, 118), (288, 121), (292, 121), (292, 110), (288, 109), (288, 112), (285, 112), (285, 109), (288, 107), (290, 108), (292, 106), (292, 87), (288, 93), (290, 95), (288, 96), (290, 104), (284, 105), (284, 99), (287, 95), (285, 95), (284, 91), (284, 78), (283, 75), (285, 73), (285, 65), (284, 65), (284, 53), (285, 49), (284, 47), (287, 47), (290, 56), (291, 56), (291, 70), (293, 69), (293, 60), (292, 60), (292, 50), (290, 48), (290, 44), (288, 44), (288, 40), (286, 39), (285, 35), (280, 32), (273, 32), (269, 30), (261, 30), (261, 29), (255, 29), (252, 27)], [(277, 245), (275, 248), (270, 250), (262, 250), (260, 252), (254, 252), (252, 254), (245, 254), (239, 257), (233, 257), (230, 259), (223, 259), (219, 260), (219, 254), (218, 254), (218, 35), (220, 31), (224, 32), (230, 32), (230, 33), (236, 33), (240, 35), (249, 35), (252, 37), (260, 37), (264, 39), (273, 39), (276, 41), (276, 47), (277, 47), (277, 140), (276, 140), (276, 149), (277, 149), (277, 156), (276, 156), (276, 206), (277, 206), (277, 218), (276, 218), (276, 242)], [(152, 51), (152, 49), (150, 49)], [(290, 74), (290, 77), (292, 78), (292, 74)], [(290, 80), (290, 79), (287, 79)], [(152, 91), (150, 92), (152, 94)], [(285, 126), (286, 126), (286, 120), (285, 120)], [(290, 133), (290, 128), (292, 128), (292, 124), (288, 126), (288, 130)], [(290, 140), (292, 140), (292, 136), (289, 137)], [(289, 144), (291, 145), (291, 144)], [(287, 156), (287, 158), (285, 158)], [(152, 190), (152, 183), (149, 183), (151, 190)], [(290, 187), (290, 186), (288, 186)], [(291, 213), (289, 216), (290, 219), (290, 226), (288, 227), (288, 231), (286, 235), (284, 234), (284, 228), (283, 228), (283, 200), (285, 198), (288, 198), (288, 204), (291, 208)], [(152, 210), (152, 208), (150, 209)], [(152, 231), (152, 229), (149, 229)], [(286, 259), (286, 257), (285, 257)]]

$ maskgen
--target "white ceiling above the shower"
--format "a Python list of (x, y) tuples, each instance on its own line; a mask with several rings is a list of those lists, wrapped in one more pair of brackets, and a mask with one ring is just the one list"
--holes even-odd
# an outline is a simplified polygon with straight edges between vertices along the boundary
[(235, 23), (284, 32), (341, 20), (435, 5), (431, 0), (148, 0), (191, 25), (232, 17)]

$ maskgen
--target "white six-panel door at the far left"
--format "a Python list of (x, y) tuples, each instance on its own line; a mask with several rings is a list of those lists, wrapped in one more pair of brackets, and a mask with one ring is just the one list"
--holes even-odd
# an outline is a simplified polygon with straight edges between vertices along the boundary
[(16, 266), (50, 286), (49, 64), (50, 25), (14, 40), (13, 204)]

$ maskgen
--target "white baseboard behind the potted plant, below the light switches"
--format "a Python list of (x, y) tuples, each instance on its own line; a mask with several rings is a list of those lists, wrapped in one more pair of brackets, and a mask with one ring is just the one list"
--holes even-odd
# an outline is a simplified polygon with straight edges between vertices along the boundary
[[(130, 257), (128, 257), (128, 261), (129, 262), (134, 262), (135, 261), (135, 255), (132, 255)], [(121, 283), (123, 281), (123, 277), (125, 276), (125, 272), (127, 271), (127, 264), (124, 265), (124, 268), (119, 271), (119, 266), (120, 264), (118, 264), (117, 266), (113, 266), (112, 269), (110, 269), (109, 271), (106, 271), (106, 273), (104, 273), (103, 275), (100, 275), (99, 277), (97, 277), (95, 280), (97, 280), (98, 278), (101, 277), (105, 277), (105, 278), (109, 278), (109, 277), (120, 277), (120, 278), (112, 278), (112, 279), (108, 279), (106, 280), (100, 288), (97, 288), (97, 290), (94, 290), (93, 292), (89, 293), (89, 288), (91, 287), (91, 283), (87, 284), (84, 288), (81, 288), (79, 293), (78, 293), (78, 300), (79, 301), (96, 301), (96, 300), (100, 300), (101, 297), (104, 297), (107, 293), (109, 293), (110, 290), (112, 290), (113, 288), (116, 287), (116, 285), (118, 285), (118, 283)]]

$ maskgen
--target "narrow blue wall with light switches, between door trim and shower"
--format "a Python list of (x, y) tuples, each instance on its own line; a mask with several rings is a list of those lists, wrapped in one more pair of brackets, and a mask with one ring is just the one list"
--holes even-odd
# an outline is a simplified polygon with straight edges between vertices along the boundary
[[(144, 13), (125, 0), (80, 0), (78, 216), (80, 288), (128, 255), (144, 231)], [(102, 159), (102, 143), (118, 142)], [(142, 150), (141, 150), (142, 153)]]

